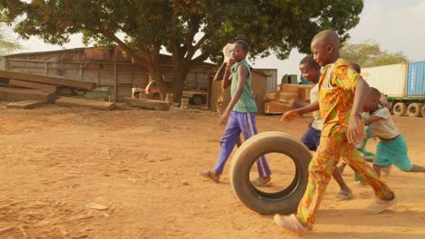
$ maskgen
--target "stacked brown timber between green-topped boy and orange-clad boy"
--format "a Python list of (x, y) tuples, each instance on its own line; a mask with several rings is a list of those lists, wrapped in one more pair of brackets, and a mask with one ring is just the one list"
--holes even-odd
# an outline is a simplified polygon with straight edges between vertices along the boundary
[(278, 91), (264, 95), (264, 113), (282, 114), (292, 110), (292, 100), (309, 102), (311, 88), (312, 85), (281, 84)]

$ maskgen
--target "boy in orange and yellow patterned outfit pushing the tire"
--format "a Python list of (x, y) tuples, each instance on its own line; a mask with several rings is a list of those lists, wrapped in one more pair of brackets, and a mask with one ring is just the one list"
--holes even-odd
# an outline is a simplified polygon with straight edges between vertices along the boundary
[(360, 157), (354, 143), (364, 138), (361, 106), (368, 84), (351, 69), (350, 62), (340, 58), (340, 38), (333, 31), (317, 33), (311, 41), (314, 61), (324, 67), (319, 81), (319, 101), (304, 110), (283, 116), (283, 120), (297, 118), (302, 113), (321, 110), (323, 128), (321, 144), (309, 166), (309, 182), (296, 215), (275, 215), (277, 225), (293, 232), (312, 229), (331, 173), (340, 158), (364, 178), (378, 197), (369, 208), (381, 213), (397, 203), (394, 193), (375, 175), (371, 166)]

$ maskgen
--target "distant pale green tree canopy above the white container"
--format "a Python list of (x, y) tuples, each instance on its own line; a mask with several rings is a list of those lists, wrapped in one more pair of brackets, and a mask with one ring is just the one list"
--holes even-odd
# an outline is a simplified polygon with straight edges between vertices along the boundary
[(350, 62), (358, 63), (361, 67), (409, 62), (405, 53), (384, 51), (379, 43), (371, 40), (360, 44), (344, 43), (341, 56)]

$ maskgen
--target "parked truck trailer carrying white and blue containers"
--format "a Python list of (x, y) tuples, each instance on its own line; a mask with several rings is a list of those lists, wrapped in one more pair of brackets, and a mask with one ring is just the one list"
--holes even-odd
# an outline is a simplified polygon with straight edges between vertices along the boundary
[(425, 62), (363, 68), (361, 75), (387, 95), (395, 115), (425, 117)]

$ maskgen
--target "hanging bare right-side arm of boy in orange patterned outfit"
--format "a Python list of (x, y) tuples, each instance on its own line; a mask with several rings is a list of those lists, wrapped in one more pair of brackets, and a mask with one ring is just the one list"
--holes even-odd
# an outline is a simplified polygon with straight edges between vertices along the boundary
[(348, 140), (349, 143), (356, 143), (362, 140), (364, 133), (360, 127), (361, 120), (361, 108), (363, 106), (364, 100), (366, 99), (369, 89), (369, 84), (359, 78), (356, 81), (355, 91), (354, 91), (354, 102), (352, 104), (349, 128), (348, 128)]

